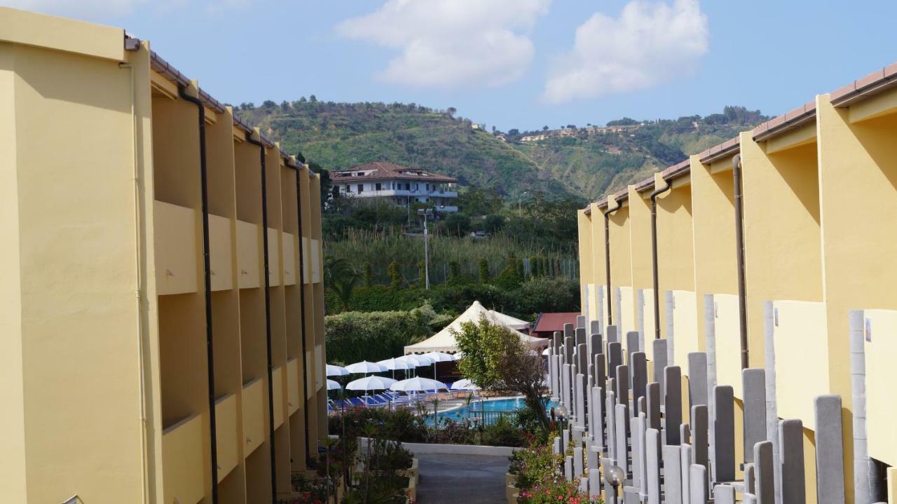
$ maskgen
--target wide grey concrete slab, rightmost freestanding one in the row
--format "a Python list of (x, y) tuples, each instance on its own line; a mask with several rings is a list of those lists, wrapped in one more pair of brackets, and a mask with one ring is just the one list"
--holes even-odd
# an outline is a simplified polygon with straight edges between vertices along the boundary
[(844, 502), (844, 444), (841, 440), (839, 395), (814, 399), (816, 420), (816, 500), (819, 504)]

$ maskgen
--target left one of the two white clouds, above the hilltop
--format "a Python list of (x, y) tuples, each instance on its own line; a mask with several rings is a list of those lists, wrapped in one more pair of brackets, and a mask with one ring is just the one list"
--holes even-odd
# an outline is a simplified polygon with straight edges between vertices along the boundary
[(399, 55), (378, 78), (413, 87), (501, 86), (527, 71), (527, 33), (551, 0), (388, 0), (374, 13), (336, 26)]

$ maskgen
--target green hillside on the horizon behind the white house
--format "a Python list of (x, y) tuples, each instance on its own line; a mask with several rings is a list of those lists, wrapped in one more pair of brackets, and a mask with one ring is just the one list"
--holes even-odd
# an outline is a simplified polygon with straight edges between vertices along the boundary
[[(623, 126), (622, 131), (591, 125), (522, 134), (512, 129), (505, 142), (451, 112), (414, 103), (335, 103), (313, 97), (237, 108), (239, 116), (261, 125), (287, 152), (301, 152), (325, 169), (391, 161), (502, 195), (542, 191), (579, 198), (596, 198), (649, 176), (767, 118), (759, 111), (727, 107), (707, 117), (608, 123)], [(545, 138), (524, 142), (526, 135)]]

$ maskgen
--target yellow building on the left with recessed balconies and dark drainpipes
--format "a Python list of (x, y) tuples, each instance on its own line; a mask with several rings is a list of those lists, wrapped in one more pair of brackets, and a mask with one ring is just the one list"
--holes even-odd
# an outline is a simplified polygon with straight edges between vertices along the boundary
[(120, 29), (0, 7), (0, 102), (4, 502), (290, 492), (327, 435), (318, 176)]

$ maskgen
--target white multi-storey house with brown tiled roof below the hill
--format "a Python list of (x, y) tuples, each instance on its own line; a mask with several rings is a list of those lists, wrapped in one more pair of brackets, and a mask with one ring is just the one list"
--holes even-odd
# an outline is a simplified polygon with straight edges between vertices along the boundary
[(457, 212), (457, 178), (425, 169), (374, 161), (331, 171), (330, 180), (340, 196), (377, 197), (402, 206), (432, 203), (437, 212)]

